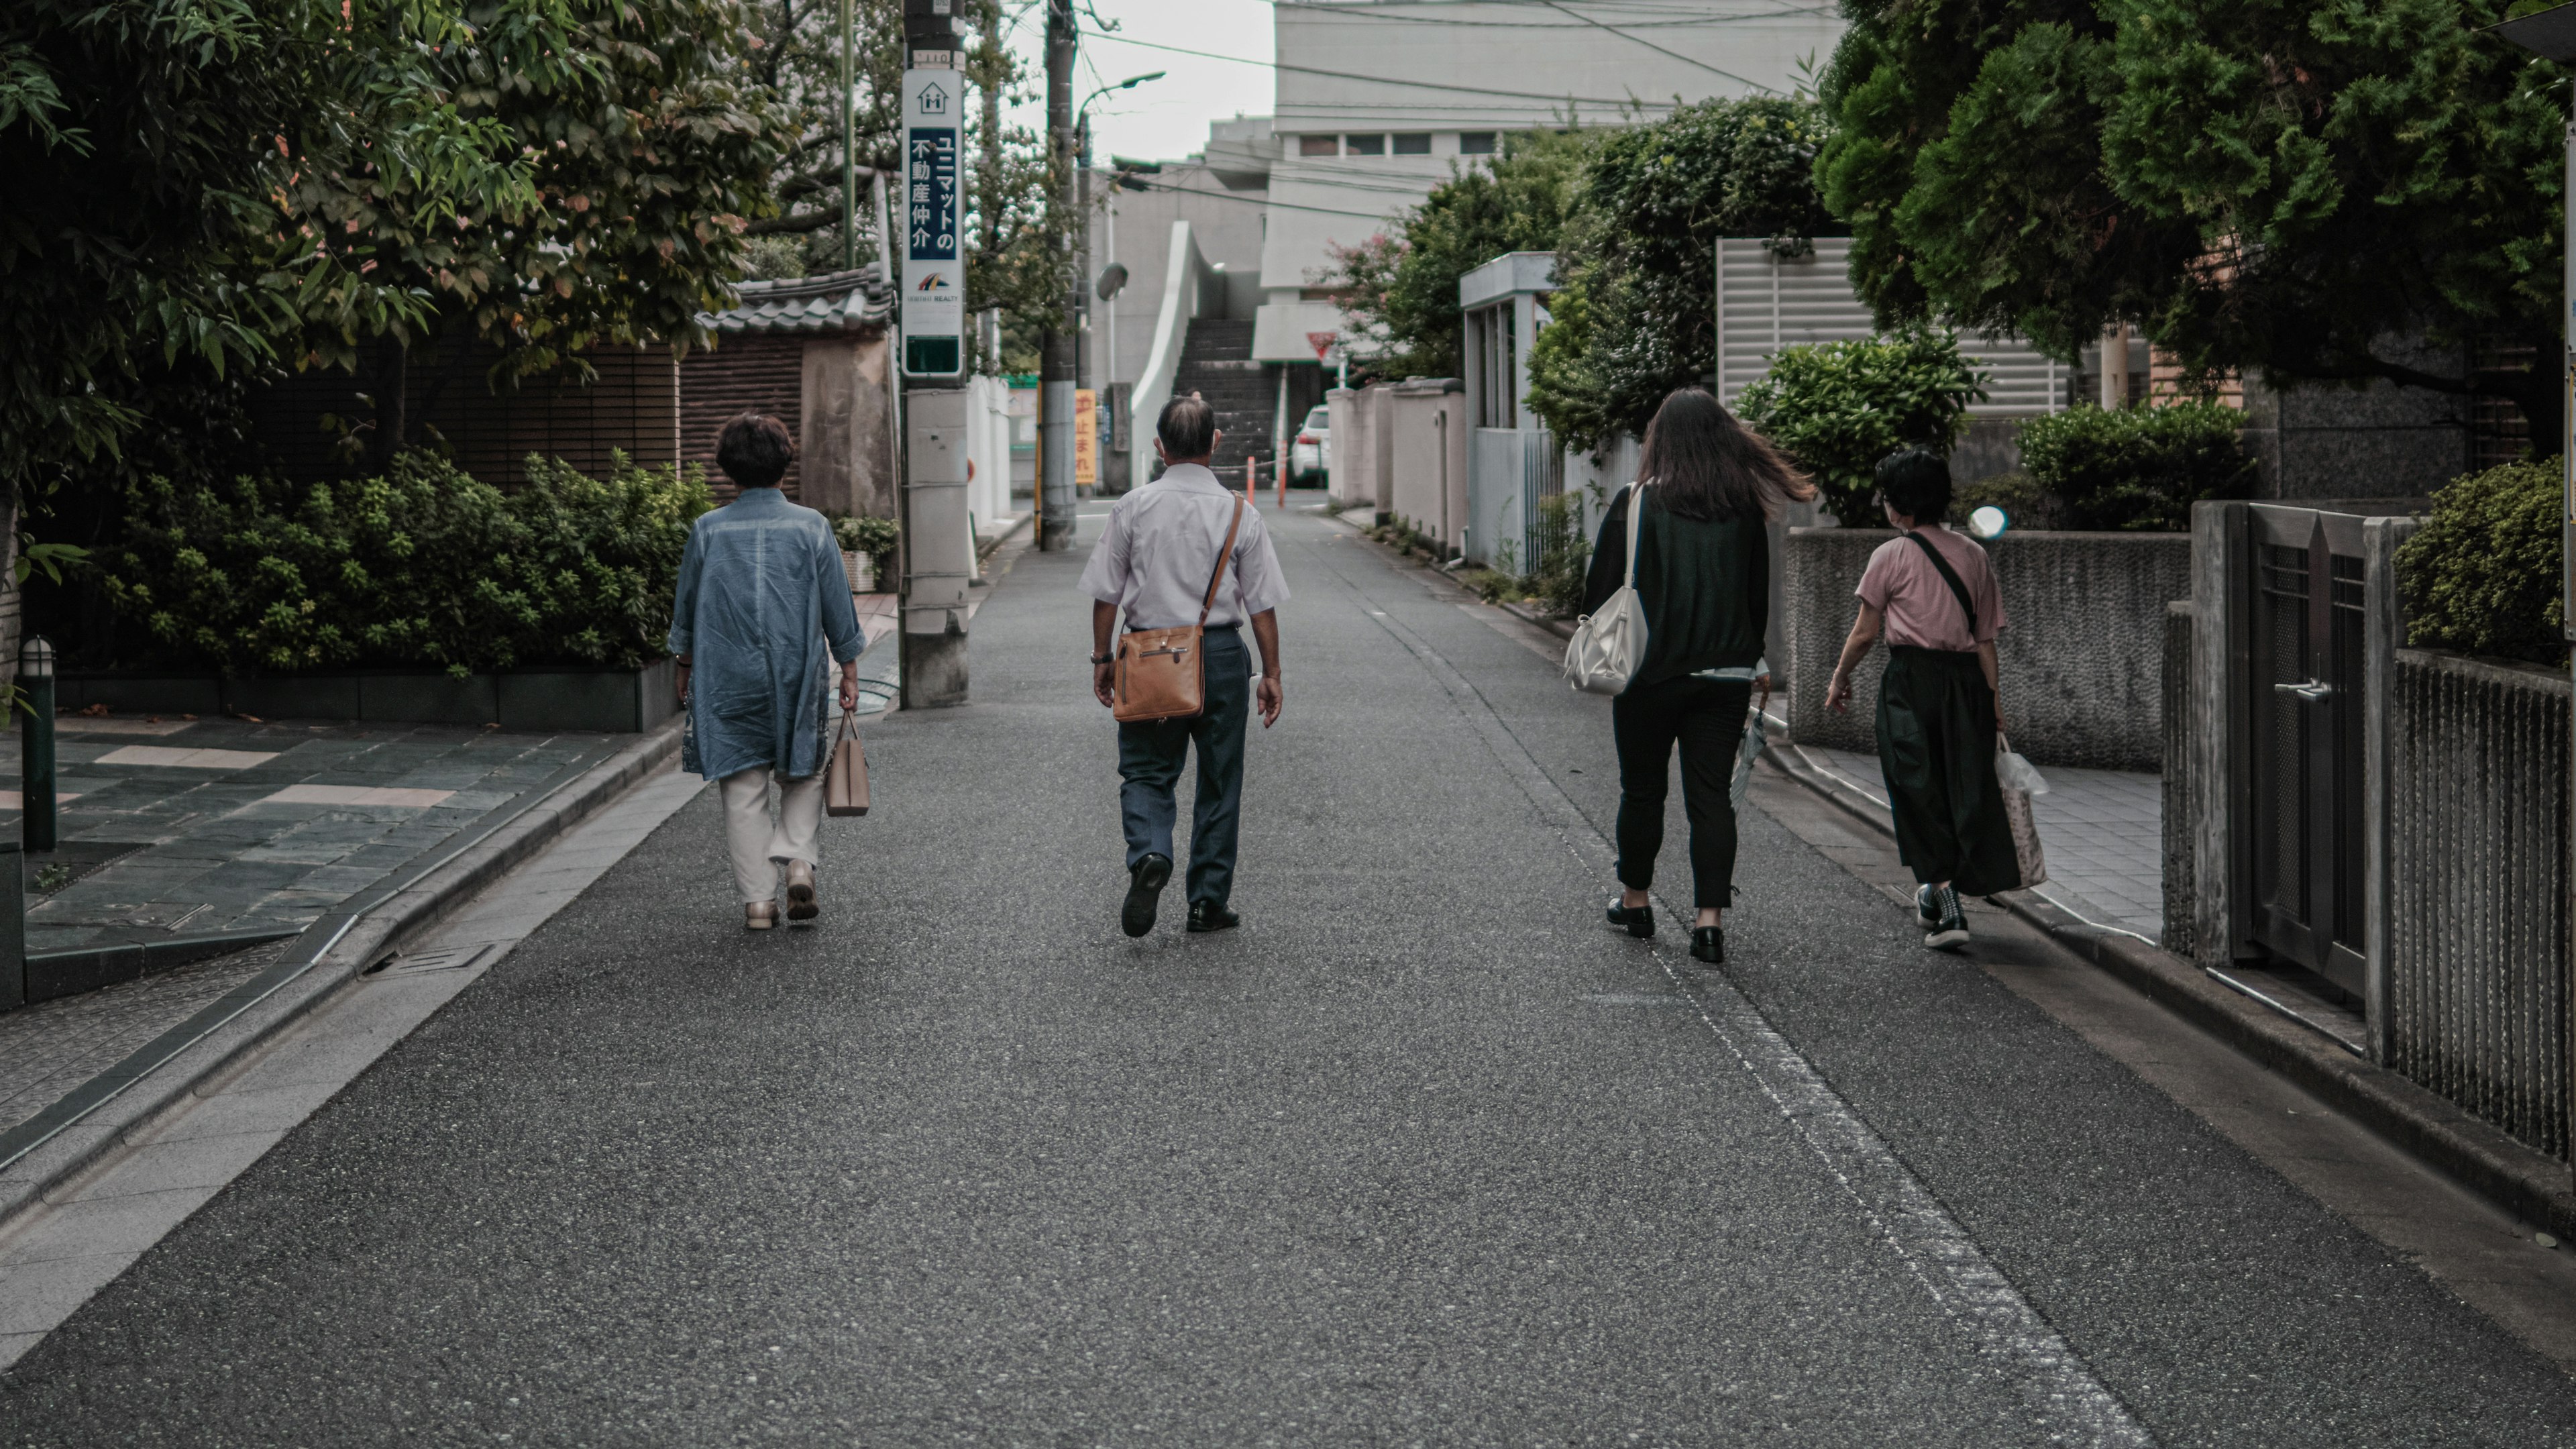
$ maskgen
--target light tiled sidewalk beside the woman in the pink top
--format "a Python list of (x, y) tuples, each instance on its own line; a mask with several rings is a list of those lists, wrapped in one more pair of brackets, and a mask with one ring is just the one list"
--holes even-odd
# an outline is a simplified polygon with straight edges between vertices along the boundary
[[(1888, 786), (1878, 755), (1780, 745), (1839, 776), (1878, 804)], [(2079, 771), (2040, 766), (2048, 794), (2030, 799), (2048, 853), (2048, 884), (2038, 895), (2143, 941), (2164, 936), (2164, 776), (2138, 771)]]

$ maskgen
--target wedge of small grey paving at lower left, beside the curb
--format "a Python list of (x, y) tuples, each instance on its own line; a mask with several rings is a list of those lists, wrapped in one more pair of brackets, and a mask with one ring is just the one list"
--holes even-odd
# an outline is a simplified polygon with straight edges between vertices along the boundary
[(283, 949), (283, 941), (252, 946), (0, 1016), (0, 1127), (26, 1122), (144, 1042), (196, 1016), (268, 969)]

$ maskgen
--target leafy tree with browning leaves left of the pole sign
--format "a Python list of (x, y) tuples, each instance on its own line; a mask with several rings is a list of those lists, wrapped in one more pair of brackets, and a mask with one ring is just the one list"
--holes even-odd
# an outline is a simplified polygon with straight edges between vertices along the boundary
[(397, 59), (412, 39), (397, 31), (345, 88), (425, 80), (471, 126), (456, 178), (515, 165), (518, 186), (386, 173), (330, 108), (294, 119), (301, 144), (289, 134), (278, 245), (309, 258), (296, 361), (379, 369), (379, 467), (420, 441), (404, 376), (422, 343), (451, 379), (479, 345), (510, 384), (587, 374), (582, 353), (608, 343), (698, 340), (788, 134), (737, 0), (466, 0), (461, 21), (428, 77)]

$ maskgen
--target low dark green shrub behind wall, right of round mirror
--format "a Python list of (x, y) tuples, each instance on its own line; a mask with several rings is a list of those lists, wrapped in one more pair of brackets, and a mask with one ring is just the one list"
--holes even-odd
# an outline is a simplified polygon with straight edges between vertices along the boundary
[(2251, 498), (2244, 413), (2223, 402), (2071, 407), (2022, 423), (2022, 469), (2061, 529), (2182, 531), (2202, 498)]

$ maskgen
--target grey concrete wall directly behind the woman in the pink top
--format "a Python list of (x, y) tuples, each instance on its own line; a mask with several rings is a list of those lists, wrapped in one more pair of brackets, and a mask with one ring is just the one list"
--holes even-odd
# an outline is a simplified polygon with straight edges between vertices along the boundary
[[(1875, 750), (1886, 645), (1855, 670), (1850, 714), (1824, 686), (1852, 629), (1852, 585), (1888, 529), (1788, 529), (1783, 634), (1790, 737)], [(1911, 547), (1911, 544), (1909, 544)], [(1989, 544), (2004, 593), (1996, 639), (2012, 745), (2048, 766), (2151, 771), (2164, 758), (2164, 614), (2192, 590), (2190, 534), (2007, 534)]]

